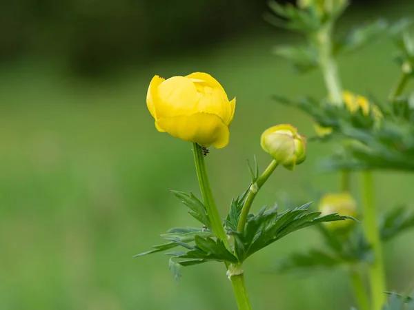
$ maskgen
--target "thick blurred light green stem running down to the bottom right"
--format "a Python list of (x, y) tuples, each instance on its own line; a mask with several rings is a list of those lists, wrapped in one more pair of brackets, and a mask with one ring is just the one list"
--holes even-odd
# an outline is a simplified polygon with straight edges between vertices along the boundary
[(364, 212), (363, 226), (375, 258), (368, 269), (371, 303), (373, 310), (380, 310), (382, 309), (382, 304), (386, 301), (384, 293), (386, 290), (386, 280), (380, 231), (378, 231), (377, 227), (378, 214), (377, 205), (374, 200), (373, 175), (369, 170), (362, 172), (362, 199), (362, 211)]

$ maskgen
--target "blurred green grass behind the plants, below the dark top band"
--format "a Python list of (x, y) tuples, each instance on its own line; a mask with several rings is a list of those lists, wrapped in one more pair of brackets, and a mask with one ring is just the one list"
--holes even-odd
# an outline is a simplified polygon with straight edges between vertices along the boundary
[[(407, 6), (408, 8), (408, 6)], [(410, 8), (413, 8), (412, 6)], [(387, 14), (401, 15), (402, 7)], [(344, 25), (376, 17), (347, 17)], [(148, 83), (204, 71), (237, 96), (225, 149), (210, 149), (210, 180), (219, 211), (249, 183), (246, 159), (270, 158), (259, 136), (270, 125), (291, 123), (313, 134), (311, 120), (270, 99), (324, 96), (319, 72), (297, 76), (270, 53), (292, 41), (268, 30), (218, 43), (208, 50), (130, 65), (95, 81), (62, 74), (39, 57), (0, 67), (0, 309), (236, 309), (224, 267), (183, 269), (177, 287), (168, 258), (132, 255), (160, 242), (170, 227), (197, 225), (168, 189), (199, 196), (190, 143), (159, 134), (146, 110)], [(340, 59), (344, 87), (385, 98), (399, 76), (387, 39)], [(253, 211), (290, 196), (312, 200), (306, 188), (338, 189), (337, 176), (318, 162), (333, 145), (311, 143), (295, 172), (279, 168)], [(381, 209), (412, 203), (413, 176), (375, 173)], [(359, 187), (353, 179), (355, 192)], [(283, 206), (282, 206), (283, 207)], [(413, 288), (413, 232), (385, 247), (389, 289)], [(269, 270), (278, 257), (321, 242), (313, 229), (290, 235), (249, 258), (246, 281), (255, 309), (349, 309), (355, 305), (346, 271), (280, 276)]]

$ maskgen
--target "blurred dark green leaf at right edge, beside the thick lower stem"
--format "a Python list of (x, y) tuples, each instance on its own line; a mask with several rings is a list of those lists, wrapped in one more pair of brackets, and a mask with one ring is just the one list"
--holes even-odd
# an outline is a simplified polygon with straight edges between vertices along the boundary
[(414, 212), (406, 206), (395, 207), (380, 220), (380, 234), (384, 241), (395, 238), (414, 227)]

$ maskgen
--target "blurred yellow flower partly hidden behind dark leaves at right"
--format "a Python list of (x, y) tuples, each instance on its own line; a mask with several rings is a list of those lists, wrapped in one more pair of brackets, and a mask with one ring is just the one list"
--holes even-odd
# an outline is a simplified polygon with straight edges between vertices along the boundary
[[(355, 95), (348, 90), (342, 92), (342, 100), (345, 103), (346, 110), (348, 110), (351, 114), (355, 114), (360, 109), (364, 116), (369, 116), (370, 112), (373, 114), (374, 118), (374, 125), (379, 126), (381, 123), (382, 112), (377, 105), (370, 103), (368, 99), (364, 96)], [(331, 134), (332, 127), (323, 127), (318, 123), (313, 125), (315, 132), (318, 136), (328, 136)]]

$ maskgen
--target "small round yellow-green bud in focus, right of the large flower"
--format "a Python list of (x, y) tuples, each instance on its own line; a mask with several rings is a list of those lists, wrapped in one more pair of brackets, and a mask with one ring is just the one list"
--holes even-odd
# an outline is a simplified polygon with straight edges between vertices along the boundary
[(291, 125), (268, 128), (260, 141), (262, 149), (287, 169), (293, 170), (306, 158), (306, 138)]

